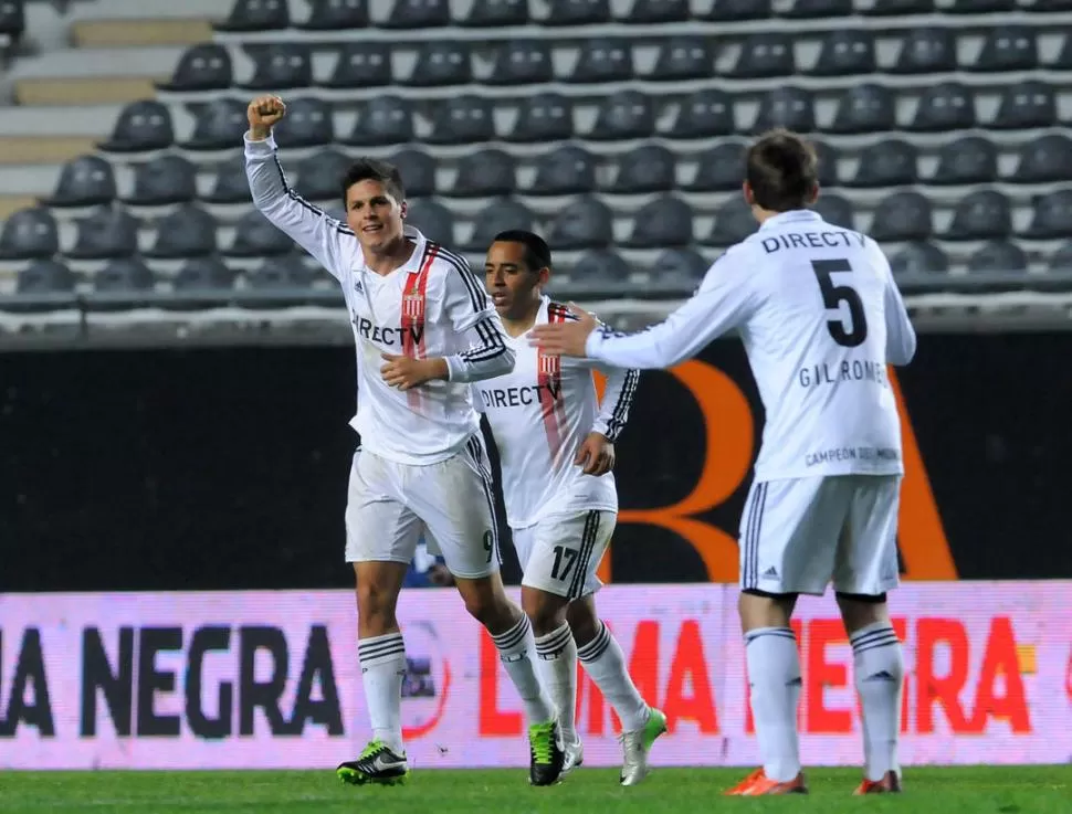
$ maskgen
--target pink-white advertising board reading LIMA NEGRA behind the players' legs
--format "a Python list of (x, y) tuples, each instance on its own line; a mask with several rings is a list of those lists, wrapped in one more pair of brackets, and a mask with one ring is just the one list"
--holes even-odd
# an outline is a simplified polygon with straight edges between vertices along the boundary
[[(516, 592), (515, 592), (516, 593)], [(729, 585), (608, 585), (600, 612), (665, 710), (661, 765), (752, 765), (756, 740)], [(1072, 755), (1072, 582), (911, 583), (906, 764)], [(451, 590), (402, 598), (403, 722), (419, 769), (523, 767), (519, 701)], [(852, 655), (833, 602), (796, 621), (809, 764), (861, 761)], [(617, 765), (617, 721), (581, 673), (587, 765)], [(0, 594), (0, 769), (330, 769), (368, 736), (353, 594)]]

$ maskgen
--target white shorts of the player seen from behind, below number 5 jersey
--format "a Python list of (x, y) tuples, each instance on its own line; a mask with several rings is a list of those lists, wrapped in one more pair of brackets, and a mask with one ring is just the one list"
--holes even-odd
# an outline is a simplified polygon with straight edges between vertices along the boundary
[(754, 483), (740, 518), (740, 588), (875, 596), (896, 588), (900, 475)]

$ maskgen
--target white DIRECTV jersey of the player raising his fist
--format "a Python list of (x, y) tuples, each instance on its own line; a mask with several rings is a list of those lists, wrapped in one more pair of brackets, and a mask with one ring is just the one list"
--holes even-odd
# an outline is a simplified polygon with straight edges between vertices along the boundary
[[(433, 464), (480, 430), (471, 382), (508, 372), (514, 352), (483, 284), (465, 260), (406, 228), (412, 256), (387, 275), (369, 271), (353, 231), (286, 183), (270, 137), (245, 137), (245, 168), (256, 208), (312, 254), (343, 288), (357, 343), (361, 447), (402, 464)], [(381, 353), (445, 357), (448, 381), (402, 392), (388, 385)]]

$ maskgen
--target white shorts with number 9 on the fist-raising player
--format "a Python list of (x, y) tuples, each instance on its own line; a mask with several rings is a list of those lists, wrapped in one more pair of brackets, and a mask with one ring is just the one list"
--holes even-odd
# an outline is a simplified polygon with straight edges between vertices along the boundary
[(358, 450), (346, 505), (346, 561), (409, 564), (422, 532), (454, 577), (500, 565), (492, 471), (480, 434), (438, 464), (414, 466)]

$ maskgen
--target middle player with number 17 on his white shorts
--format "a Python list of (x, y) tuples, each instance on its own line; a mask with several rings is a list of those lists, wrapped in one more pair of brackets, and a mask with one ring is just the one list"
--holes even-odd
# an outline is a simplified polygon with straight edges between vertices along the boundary
[[(584, 761), (575, 723), (577, 659), (622, 722), (622, 785), (648, 774), (648, 752), (666, 731), (629, 677), (618, 642), (596, 615), (596, 568), (618, 518), (614, 441), (640, 372), (607, 368), (602, 405), (592, 366), (538, 352), (535, 325), (575, 319), (543, 294), (550, 251), (538, 235), (500, 233), (484, 277), (516, 355), (514, 370), (477, 385), (503, 469), (506, 519), (524, 571), (522, 605), (536, 631), (537, 670), (558, 710), (566, 772)], [(601, 366), (600, 366), (601, 367)]]

